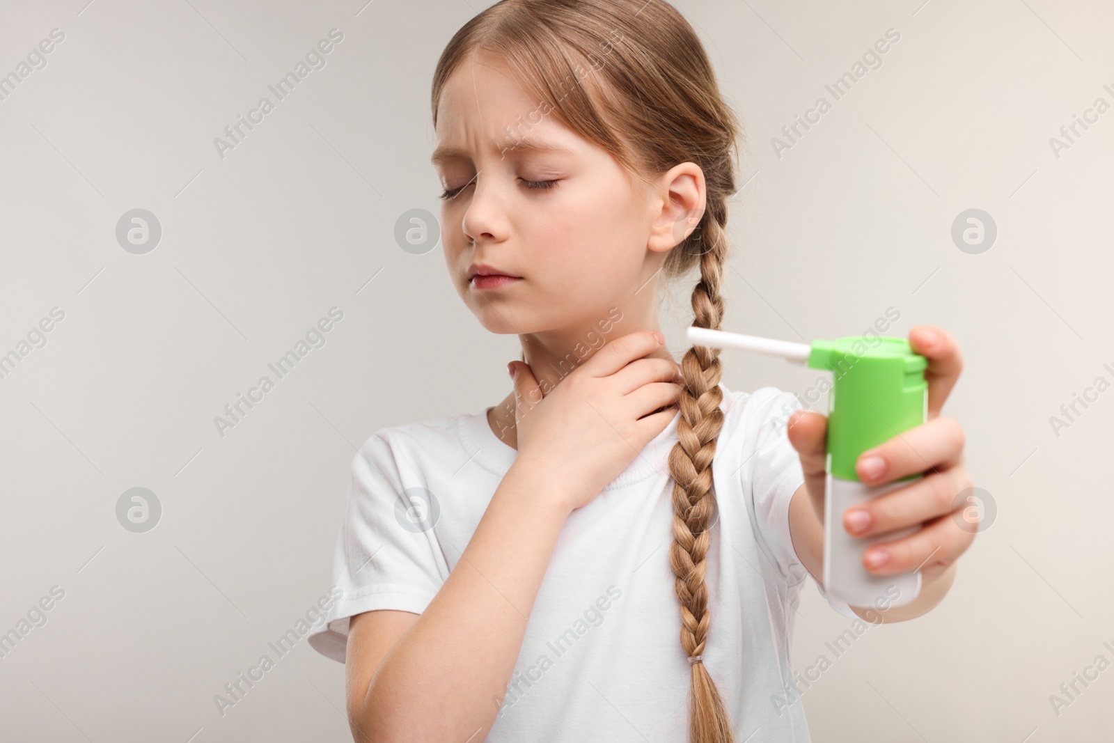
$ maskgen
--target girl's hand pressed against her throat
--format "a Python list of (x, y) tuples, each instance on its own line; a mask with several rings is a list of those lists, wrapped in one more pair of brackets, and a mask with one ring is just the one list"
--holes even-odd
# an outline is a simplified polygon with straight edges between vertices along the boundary
[(653, 331), (617, 338), (545, 394), (529, 364), (511, 362), (516, 465), (567, 485), (569, 512), (590, 502), (676, 416), (668, 405), (681, 394), (677, 363), (643, 358), (663, 344)]

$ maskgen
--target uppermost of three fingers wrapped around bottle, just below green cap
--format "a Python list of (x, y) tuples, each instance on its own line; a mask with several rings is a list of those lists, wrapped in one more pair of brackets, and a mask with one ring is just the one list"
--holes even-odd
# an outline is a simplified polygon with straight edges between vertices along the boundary
[(881, 485), (907, 475), (956, 465), (962, 458), (964, 429), (941, 416), (898, 433), (859, 454), (854, 472), (867, 485)]

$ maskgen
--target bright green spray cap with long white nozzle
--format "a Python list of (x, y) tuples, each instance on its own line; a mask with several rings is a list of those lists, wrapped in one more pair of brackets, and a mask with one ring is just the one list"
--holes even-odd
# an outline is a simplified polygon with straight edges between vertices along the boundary
[[(859, 454), (928, 418), (928, 360), (900, 338), (851, 335), (811, 345), (690, 327), (694, 345), (781, 356), (832, 372), (828, 412), (828, 471), (858, 480)], [(901, 480), (919, 477), (910, 475)]]

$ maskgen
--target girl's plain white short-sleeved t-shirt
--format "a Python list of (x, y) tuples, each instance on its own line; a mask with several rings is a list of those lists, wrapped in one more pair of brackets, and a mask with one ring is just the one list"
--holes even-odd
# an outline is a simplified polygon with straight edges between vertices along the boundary
[[(752, 740), (808, 742), (790, 664), (809, 575), (789, 531), (790, 498), (804, 477), (785, 419), (800, 403), (773, 387), (720, 387), (703, 662), (737, 740), (760, 730)], [(678, 418), (569, 515), (488, 743), (687, 740), (691, 669), (670, 567), (667, 457)], [(311, 629), (310, 645), (343, 663), (352, 615), (424, 610), (517, 454), (491, 430), (487, 410), (384, 428), (368, 439), (352, 460), (336, 541), (333, 577), (344, 593)]]

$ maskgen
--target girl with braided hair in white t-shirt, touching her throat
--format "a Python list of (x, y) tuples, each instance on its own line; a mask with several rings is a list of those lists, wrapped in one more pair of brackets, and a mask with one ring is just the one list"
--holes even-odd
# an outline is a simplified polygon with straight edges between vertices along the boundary
[[(310, 642), (346, 664), (354, 739), (808, 741), (790, 643), (822, 575), (827, 419), (729, 390), (713, 349), (678, 365), (657, 332), (659, 278), (693, 268), (694, 324), (723, 317), (739, 133), (696, 35), (661, 0), (502, 0), (443, 51), (432, 115), (449, 274), (522, 356), (500, 404), (353, 459), (343, 595)], [(921, 568), (890, 620), (935, 606), (973, 538), (949, 517), (962, 432), (938, 416), (959, 354), (911, 342), (932, 420), (860, 476), (934, 471), (852, 531), (924, 524), (869, 550)]]

